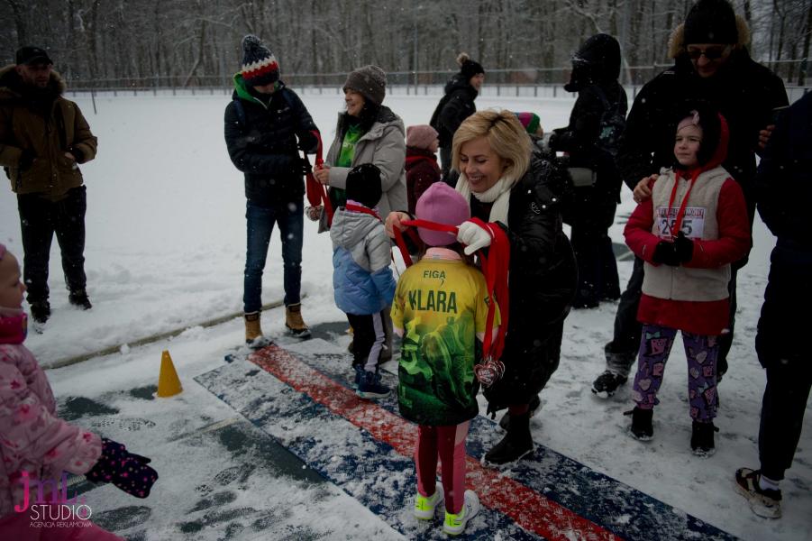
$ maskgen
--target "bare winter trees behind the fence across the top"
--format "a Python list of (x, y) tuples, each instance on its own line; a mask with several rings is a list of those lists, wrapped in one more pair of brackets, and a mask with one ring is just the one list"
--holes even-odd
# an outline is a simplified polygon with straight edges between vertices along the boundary
[[(672, 30), (692, 0), (2, 0), (0, 36), (6, 63), (36, 44), (50, 51), (68, 80), (171, 78), (173, 85), (226, 81), (239, 69), (240, 41), (254, 33), (277, 55), (282, 77), (312, 74), (339, 83), (349, 70), (374, 63), (388, 72), (444, 80), (467, 51), (488, 69), (489, 82), (561, 82), (543, 69), (569, 66), (588, 36), (618, 38), (626, 66), (668, 62)], [(756, 60), (809, 56), (812, 0), (734, 1), (753, 32)], [(775, 65), (771, 64), (775, 69)], [(522, 69), (541, 69), (525, 73)], [(806, 62), (780, 75), (804, 84)], [(783, 71), (783, 72), (781, 72)], [(430, 73), (438, 72), (438, 73)], [(520, 80), (521, 78), (528, 80)], [(545, 80), (554, 77), (556, 80)], [(511, 78), (512, 80), (507, 80)], [(529, 80), (534, 79), (534, 80)], [(410, 82), (403, 80), (401, 82)], [(640, 83), (643, 81), (627, 81)], [(111, 83), (112, 84), (112, 83)]]

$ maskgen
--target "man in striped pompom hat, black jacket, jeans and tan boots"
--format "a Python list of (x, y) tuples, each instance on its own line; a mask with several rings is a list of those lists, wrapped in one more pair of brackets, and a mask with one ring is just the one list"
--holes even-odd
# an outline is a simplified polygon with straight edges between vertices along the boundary
[(274, 224), (282, 237), (285, 325), (292, 335), (310, 335), (300, 297), (308, 166), (299, 150), (316, 151), (318, 129), (299, 96), (279, 80), (276, 57), (259, 38), (245, 36), (242, 50), (242, 71), (234, 75), (233, 100), (225, 107), (225, 143), (234, 166), (245, 174), (245, 342), (260, 347), (267, 343), (260, 327), (262, 271)]

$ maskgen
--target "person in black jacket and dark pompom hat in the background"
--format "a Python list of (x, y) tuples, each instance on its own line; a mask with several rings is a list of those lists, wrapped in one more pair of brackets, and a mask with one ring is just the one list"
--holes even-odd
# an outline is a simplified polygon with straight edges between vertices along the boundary
[(485, 69), (476, 60), (471, 60), (468, 53), (461, 52), (457, 57), (460, 64), (459, 73), (445, 84), (445, 95), (434, 109), (429, 124), (440, 134), (440, 169), (442, 180), (451, 185), (457, 184), (457, 175), (451, 175), (452, 140), (462, 121), (477, 112), (474, 100), (479, 95), (479, 88), (485, 81)]

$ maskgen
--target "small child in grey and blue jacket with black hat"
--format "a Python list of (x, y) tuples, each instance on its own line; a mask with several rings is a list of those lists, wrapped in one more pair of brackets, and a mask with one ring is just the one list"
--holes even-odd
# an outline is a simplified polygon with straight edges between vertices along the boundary
[(333, 290), (335, 304), (352, 326), (352, 366), (358, 396), (382, 398), (378, 363), (386, 343), (384, 312), (397, 283), (389, 268), (389, 237), (374, 209), (381, 194), (380, 170), (371, 163), (347, 174), (347, 204), (333, 215)]

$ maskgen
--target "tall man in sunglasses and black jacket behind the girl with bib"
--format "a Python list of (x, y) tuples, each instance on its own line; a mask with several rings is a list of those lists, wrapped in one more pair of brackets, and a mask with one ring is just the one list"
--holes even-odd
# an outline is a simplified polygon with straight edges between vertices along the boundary
[[(783, 82), (750, 58), (745, 49), (750, 32), (727, 0), (699, 0), (671, 35), (670, 69), (648, 82), (634, 99), (626, 119), (617, 166), (635, 199), (650, 197), (648, 181), (673, 162), (673, 124), (677, 110), (688, 100), (705, 100), (725, 116), (730, 127), (727, 159), (723, 163), (742, 185), (751, 223), (755, 211), (753, 180), (755, 152), (770, 137), (772, 110), (787, 105)], [(642, 179), (646, 180), (643, 182)], [(638, 186), (640, 183), (640, 186)], [(730, 289), (730, 332), (720, 338), (718, 377), (727, 370), (733, 341), (735, 276), (744, 261), (733, 265)], [(635, 258), (615, 316), (615, 335), (605, 348), (607, 369), (592, 384), (599, 397), (612, 396), (624, 384), (640, 345), (637, 321), (643, 285), (643, 261)]]

